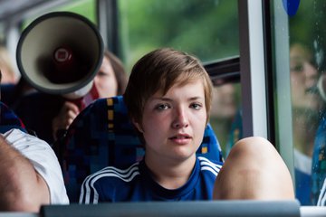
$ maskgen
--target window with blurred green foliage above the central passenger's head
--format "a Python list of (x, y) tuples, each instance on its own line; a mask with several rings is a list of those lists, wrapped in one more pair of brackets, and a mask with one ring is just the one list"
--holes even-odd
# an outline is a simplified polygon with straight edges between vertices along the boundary
[(236, 0), (120, 0), (119, 29), (127, 68), (146, 52), (173, 47), (215, 61), (239, 54)]

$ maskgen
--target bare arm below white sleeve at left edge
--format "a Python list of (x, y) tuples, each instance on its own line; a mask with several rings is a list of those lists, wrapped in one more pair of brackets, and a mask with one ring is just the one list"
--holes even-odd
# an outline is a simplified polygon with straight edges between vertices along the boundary
[(30, 161), (0, 134), (0, 210), (38, 212), (50, 203), (47, 184)]

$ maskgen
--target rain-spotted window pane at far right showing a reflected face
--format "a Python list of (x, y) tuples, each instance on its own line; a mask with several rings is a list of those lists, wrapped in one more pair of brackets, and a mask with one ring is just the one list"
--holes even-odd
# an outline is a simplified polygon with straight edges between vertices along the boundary
[(324, 141), (316, 143), (316, 137), (324, 137), (325, 133), (321, 130), (317, 134), (324, 121), (325, 104), (316, 88), (325, 70), (325, 6), (322, 0), (301, 1), (296, 14), (289, 19), (295, 184), (302, 205), (316, 203), (321, 179), (325, 177), (319, 159), (313, 163), (318, 177), (312, 177), (314, 146), (324, 146)]

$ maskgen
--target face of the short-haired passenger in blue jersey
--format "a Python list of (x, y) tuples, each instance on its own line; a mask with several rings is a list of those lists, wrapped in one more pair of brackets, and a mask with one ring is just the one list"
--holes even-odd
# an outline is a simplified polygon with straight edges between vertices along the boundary
[(174, 85), (164, 96), (156, 92), (145, 103), (142, 125), (136, 127), (146, 141), (146, 157), (177, 162), (196, 157), (206, 127), (202, 80)]

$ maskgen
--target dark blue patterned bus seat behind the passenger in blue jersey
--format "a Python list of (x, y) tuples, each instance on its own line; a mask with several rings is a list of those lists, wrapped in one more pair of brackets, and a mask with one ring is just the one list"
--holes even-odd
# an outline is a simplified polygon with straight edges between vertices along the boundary
[[(144, 155), (121, 96), (98, 99), (74, 119), (65, 137), (55, 144), (72, 203), (78, 201), (87, 175), (108, 165), (126, 167)], [(222, 161), (221, 148), (208, 125), (197, 156)]]

